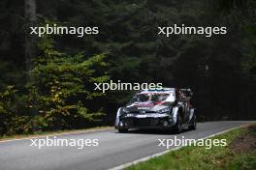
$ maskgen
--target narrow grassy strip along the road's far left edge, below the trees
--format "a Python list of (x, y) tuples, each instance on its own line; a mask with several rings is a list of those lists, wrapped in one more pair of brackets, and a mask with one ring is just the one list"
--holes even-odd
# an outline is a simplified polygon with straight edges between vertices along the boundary
[(21, 139), (27, 137), (40, 137), (46, 135), (61, 135), (64, 133), (78, 133), (78, 132), (87, 132), (99, 129), (108, 129), (111, 127), (95, 127), (95, 128), (84, 128), (84, 129), (71, 129), (71, 130), (55, 130), (55, 131), (35, 131), (33, 134), (15, 134), (15, 135), (3, 135), (0, 136), (0, 141), (11, 140), (11, 139)]

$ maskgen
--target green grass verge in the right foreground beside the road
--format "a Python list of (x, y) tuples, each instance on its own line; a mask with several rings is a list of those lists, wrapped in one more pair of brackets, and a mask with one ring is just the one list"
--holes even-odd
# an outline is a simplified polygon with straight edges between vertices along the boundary
[[(254, 126), (256, 128), (256, 126)], [(249, 128), (238, 128), (213, 138), (227, 139), (228, 146), (212, 147), (184, 147), (164, 156), (151, 158), (126, 170), (256, 170), (256, 152), (235, 152), (230, 147), (235, 138), (250, 134), (256, 138), (256, 133)]]

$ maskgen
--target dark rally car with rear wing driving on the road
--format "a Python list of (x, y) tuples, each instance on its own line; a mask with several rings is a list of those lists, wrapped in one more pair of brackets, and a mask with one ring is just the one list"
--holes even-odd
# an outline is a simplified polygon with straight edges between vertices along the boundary
[(183, 128), (196, 129), (197, 117), (191, 98), (190, 89), (144, 90), (117, 110), (114, 127), (119, 132), (131, 128), (162, 128), (176, 133)]

